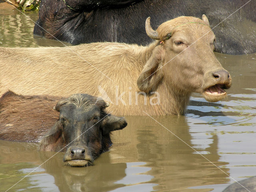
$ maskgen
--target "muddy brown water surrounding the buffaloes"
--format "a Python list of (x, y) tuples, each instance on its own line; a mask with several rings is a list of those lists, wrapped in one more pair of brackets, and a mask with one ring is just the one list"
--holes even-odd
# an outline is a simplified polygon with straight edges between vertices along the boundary
[[(26, 16), (0, 8), (0, 46), (60, 45), (34, 39), (28, 18), (37, 13)], [(50, 158), (37, 144), (0, 140), (0, 191), (220, 192), (232, 178), (256, 175), (256, 54), (216, 56), (233, 78), (226, 99), (193, 94), (185, 116), (126, 116), (95, 166), (66, 167), (63, 153)]]

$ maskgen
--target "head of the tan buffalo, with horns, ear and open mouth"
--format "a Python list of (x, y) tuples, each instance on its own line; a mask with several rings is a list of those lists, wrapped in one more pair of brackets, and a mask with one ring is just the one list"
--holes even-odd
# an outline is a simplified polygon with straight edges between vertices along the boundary
[(148, 92), (164, 82), (170, 92), (181, 96), (198, 92), (209, 102), (226, 96), (224, 89), (230, 88), (232, 79), (214, 55), (215, 35), (205, 15), (202, 20), (178, 17), (157, 30), (151, 28), (148, 18), (146, 32), (160, 44), (138, 78), (140, 90)]

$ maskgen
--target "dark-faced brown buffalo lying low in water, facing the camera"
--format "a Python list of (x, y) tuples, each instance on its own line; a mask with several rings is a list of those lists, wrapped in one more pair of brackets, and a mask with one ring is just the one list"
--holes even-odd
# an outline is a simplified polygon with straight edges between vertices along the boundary
[[(66, 165), (88, 166), (109, 150), (110, 132), (127, 125), (124, 118), (108, 114), (105, 108), (109, 104), (100, 98), (74, 94), (60, 100), (55, 110), (49, 108), (57, 99), (6, 92), (0, 98), (0, 138), (40, 140), (42, 151), (65, 151)], [(52, 128), (50, 124), (54, 124)]]

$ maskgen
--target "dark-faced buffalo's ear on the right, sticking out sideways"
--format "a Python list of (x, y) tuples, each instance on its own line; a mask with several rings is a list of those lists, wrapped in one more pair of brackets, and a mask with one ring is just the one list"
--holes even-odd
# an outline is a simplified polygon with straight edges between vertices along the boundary
[(102, 120), (102, 130), (103, 135), (108, 134), (115, 130), (123, 129), (127, 126), (127, 122), (124, 117), (117, 117), (111, 114), (108, 114)]

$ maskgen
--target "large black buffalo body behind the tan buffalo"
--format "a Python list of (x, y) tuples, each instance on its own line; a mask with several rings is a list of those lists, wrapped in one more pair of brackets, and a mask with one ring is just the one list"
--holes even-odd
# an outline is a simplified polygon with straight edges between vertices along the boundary
[[(51, 39), (55, 37), (75, 45), (104, 41), (146, 45), (150, 39), (146, 36), (143, 23), (148, 16), (154, 16), (153, 28), (157, 28), (166, 20), (178, 16), (200, 17), (206, 14), (217, 38), (214, 43), (216, 52), (249, 54), (256, 52), (256, 0), (246, 4), (247, 2), (248, 0), (41, 0), (34, 34)], [(243, 6), (244, 4), (246, 5)], [(228, 16), (230, 18), (226, 19)], [(214, 28), (215, 26), (217, 27)]]

